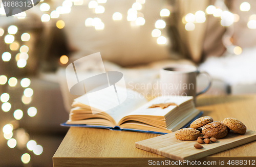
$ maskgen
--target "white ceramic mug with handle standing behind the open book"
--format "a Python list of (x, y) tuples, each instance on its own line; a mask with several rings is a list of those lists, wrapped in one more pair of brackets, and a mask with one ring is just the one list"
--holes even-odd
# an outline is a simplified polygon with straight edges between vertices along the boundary
[[(201, 92), (196, 92), (198, 74), (206, 74), (209, 79), (208, 86)], [(205, 93), (211, 86), (211, 77), (205, 71), (198, 71), (191, 65), (172, 65), (160, 70), (160, 89), (163, 95), (196, 96)]]

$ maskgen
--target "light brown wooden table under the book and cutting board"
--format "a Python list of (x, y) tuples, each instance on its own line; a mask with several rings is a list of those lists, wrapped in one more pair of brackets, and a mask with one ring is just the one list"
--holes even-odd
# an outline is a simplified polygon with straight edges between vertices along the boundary
[[(256, 131), (256, 95), (201, 96), (197, 99), (197, 108), (204, 111), (203, 116), (211, 116), (216, 121), (226, 117), (238, 118), (247, 129)], [(171, 159), (135, 148), (135, 142), (155, 136), (158, 135), (71, 127), (53, 156), (53, 165), (150, 166), (148, 160), (172, 162)], [(199, 161), (216, 161), (218, 166), (220, 160), (225, 160), (225, 165), (221, 166), (232, 166), (227, 165), (228, 160), (247, 160), (247, 164), (250, 160), (251, 164), (252, 160), (256, 160), (256, 141)]]

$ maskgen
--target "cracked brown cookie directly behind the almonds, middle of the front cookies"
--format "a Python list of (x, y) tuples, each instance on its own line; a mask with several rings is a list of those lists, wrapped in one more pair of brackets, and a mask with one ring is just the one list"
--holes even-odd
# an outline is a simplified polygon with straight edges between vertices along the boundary
[(203, 126), (202, 133), (220, 139), (227, 135), (228, 130), (227, 126), (221, 122), (211, 122)]

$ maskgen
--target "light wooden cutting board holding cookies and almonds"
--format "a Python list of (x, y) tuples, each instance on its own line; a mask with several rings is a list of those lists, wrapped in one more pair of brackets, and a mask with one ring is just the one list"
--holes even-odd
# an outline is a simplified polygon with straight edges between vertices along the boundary
[(221, 151), (241, 146), (256, 140), (256, 132), (247, 130), (245, 134), (230, 131), (216, 143), (201, 144), (203, 149), (196, 149), (197, 141), (179, 141), (175, 132), (136, 142), (135, 147), (174, 160), (196, 160)]

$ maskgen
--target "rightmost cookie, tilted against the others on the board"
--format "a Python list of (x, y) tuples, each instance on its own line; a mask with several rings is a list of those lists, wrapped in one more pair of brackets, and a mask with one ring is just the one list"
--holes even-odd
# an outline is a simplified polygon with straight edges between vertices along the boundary
[(244, 134), (246, 132), (246, 126), (236, 118), (225, 118), (223, 123), (234, 132)]

